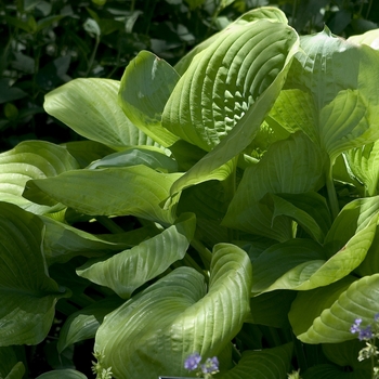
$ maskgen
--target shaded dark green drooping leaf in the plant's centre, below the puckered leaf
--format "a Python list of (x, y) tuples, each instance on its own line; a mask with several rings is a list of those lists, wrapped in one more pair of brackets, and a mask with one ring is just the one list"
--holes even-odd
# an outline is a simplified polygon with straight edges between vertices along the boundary
[(269, 193), (317, 191), (324, 184), (323, 172), (321, 151), (303, 133), (275, 142), (259, 164), (245, 170), (223, 225), (277, 240), (290, 238), (291, 219), (285, 213), (274, 217), (272, 207), (260, 200)]

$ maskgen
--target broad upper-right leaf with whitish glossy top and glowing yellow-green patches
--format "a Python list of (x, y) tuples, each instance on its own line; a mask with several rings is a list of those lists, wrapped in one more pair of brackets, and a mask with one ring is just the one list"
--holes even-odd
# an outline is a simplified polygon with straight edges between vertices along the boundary
[(331, 162), (349, 148), (375, 142), (379, 52), (327, 28), (301, 37), (301, 48), (270, 117), (288, 130), (303, 130)]

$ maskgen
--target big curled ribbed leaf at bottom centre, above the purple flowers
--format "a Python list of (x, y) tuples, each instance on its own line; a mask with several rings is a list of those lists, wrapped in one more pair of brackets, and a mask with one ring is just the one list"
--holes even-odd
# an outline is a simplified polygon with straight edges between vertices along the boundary
[(105, 316), (96, 338), (104, 368), (117, 378), (185, 376), (197, 351), (218, 355), (249, 312), (251, 265), (236, 246), (214, 247), (208, 293), (201, 274), (180, 267)]

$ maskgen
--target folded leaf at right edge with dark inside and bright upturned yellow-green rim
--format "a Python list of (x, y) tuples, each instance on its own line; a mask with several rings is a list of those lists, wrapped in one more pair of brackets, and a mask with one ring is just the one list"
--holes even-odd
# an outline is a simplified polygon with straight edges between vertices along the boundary
[[(267, 248), (253, 261), (252, 292), (309, 290), (347, 276), (364, 261), (374, 240), (378, 221), (376, 200), (348, 204), (335, 220), (324, 247), (311, 239), (296, 238)], [(350, 212), (352, 209), (355, 214)], [(339, 237), (342, 230), (343, 237)]]

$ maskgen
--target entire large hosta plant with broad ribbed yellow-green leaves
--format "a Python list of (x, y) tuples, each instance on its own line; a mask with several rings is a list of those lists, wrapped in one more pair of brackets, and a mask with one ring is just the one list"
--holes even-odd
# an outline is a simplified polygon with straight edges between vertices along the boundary
[(0, 155), (0, 376), (45, 344), (39, 378), (86, 378), (93, 340), (97, 378), (196, 376), (194, 352), (222, 379), (368, 378), (350, 327), (379, 313), (378, 47), (262, 8), (174, 67), (142, 51), (50, 92), (84, 139)]

